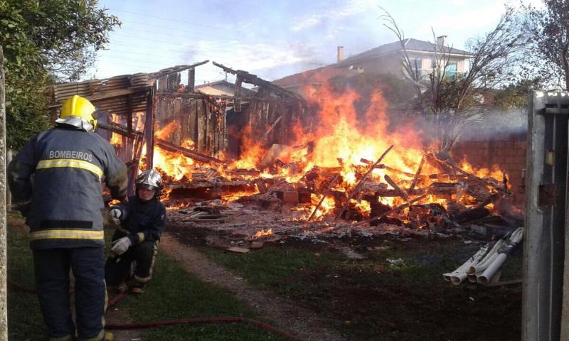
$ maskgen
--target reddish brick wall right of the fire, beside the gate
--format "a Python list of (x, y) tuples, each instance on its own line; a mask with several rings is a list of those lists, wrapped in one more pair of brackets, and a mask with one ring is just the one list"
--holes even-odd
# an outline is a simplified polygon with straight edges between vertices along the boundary
[(526, 168), (527, 133), (495, 134), (490, 137), (459, 141), (452, 148), (454, 161), (468, 161), (474, 167), (496, 165), (506, 171), (514, 193), (514, 202), (523, 203), (522, 170)]

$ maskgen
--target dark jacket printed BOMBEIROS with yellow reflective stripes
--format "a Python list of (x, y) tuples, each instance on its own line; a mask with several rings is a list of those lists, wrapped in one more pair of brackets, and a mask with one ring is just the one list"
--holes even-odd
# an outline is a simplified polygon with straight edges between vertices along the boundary
[(23, 213), (32, 249), (102, 246), (101, 183), (113, 198), (124, 199), (127, 167), (101, 136), (61, 125), (22, 148), (9, 165), (8, 182), (16, 203), (29, 202)]

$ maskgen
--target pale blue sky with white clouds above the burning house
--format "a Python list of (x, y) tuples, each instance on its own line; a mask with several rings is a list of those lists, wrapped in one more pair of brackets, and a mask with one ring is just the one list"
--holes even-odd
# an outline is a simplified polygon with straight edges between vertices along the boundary
[[(337, 46), (349, 57), (397, 40), (382, 8), (405, 38), (433, 41), (434, 31), (459, 49), (504, 13), (498, 0), (100, 0), (100, 7), (122, 26), (85, 78), (213, 60), (277, 80), (336, 63)], [(196, 68), (196, 85), (224, 78), (211, 63)]]

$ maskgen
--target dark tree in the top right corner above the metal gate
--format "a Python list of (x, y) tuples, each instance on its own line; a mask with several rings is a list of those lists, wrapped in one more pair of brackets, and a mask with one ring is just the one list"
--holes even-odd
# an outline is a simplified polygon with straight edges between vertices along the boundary
[[(545, 7), (522, 5), (523, 31), (528, 36), (526, 57), (531, 73), (548, 85), (569, 90), (569, 1), (543, 0)], [(551, 66), (554, 67), (551, 67)]]

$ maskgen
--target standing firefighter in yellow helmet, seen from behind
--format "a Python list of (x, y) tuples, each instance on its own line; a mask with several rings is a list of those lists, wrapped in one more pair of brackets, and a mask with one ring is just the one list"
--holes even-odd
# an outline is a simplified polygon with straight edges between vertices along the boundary
[[(8, 168), (14, 202), (30, 227), (36, 288), (50, 340), (112, 340), (105, 333), (102, 186), (127, 193), (127, 167), (101, 136), (95, 107), (80, 96), (61, 108), (53, 129), (24, 146)], [(31, 176), (33, 175), (33, 182)], [(75, 276), (71, 319), (69, 271)]]

